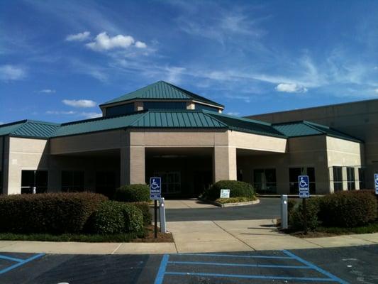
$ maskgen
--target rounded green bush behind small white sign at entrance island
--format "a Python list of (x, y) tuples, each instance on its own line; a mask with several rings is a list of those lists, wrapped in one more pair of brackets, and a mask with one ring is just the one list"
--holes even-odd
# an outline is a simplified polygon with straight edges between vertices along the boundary
[(201, 195), (205, 200), (217, 200), (221, 196), (221, 190), (230, 190), (230, 197), (248, 197), (252, 199), (255, 196), (255, 189), (247, 182), (238, 180), (220, 180), (211, 185)]

